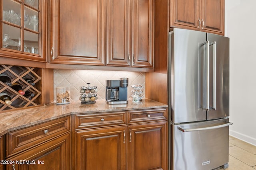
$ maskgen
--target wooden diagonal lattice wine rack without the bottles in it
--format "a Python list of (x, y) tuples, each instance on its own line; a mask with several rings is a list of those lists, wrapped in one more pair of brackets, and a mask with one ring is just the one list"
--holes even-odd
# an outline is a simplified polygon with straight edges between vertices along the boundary
[[(41, 68), (27, 67), (27, 66), (13, 66), (0, 64), (0, 74), (6, 74), (11, 78), (11, 83), (18, 83), (22, 86), (24, 92), (33, 93), (34, 96), (25, 97), (4, 82), (0, 81), (0, 93), (5, 92), (12, 98), (12, 104), (7, 105), (0, 100), (0, 112), (10, 109), (20, 109), (25, 107), (38, 106), (41, 104)], [(26, 76), (34, 81), (35, 85), (32, 86), (23, 77)]]

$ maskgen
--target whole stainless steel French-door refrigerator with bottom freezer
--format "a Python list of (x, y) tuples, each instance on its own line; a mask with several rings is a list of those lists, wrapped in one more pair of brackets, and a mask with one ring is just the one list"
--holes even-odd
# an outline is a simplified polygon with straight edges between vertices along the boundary
[(170, 169), (228, 166), (229, 38), (174, 28), (169, 39)]

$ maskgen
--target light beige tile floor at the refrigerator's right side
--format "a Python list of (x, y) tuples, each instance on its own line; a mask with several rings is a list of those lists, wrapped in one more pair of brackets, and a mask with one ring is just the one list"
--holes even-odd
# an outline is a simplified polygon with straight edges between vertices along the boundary
[(244, 141), (229, 137), (229, 162), (228, 168), (218, 170), (255, 170), (256, 146)]

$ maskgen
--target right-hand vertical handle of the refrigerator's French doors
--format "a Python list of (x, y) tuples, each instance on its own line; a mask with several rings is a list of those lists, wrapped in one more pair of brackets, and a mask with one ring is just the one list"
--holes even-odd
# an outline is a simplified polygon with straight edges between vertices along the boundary
[(210, 109), (216, 110), (216, 41), (210, 43), (210, 45), (213, 45), (213, 84), (212, 84), (212, 107)]

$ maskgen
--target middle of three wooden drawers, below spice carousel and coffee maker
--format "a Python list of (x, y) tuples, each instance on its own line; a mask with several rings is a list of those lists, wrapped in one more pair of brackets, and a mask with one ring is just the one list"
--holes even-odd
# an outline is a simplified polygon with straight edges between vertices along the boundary
[(126, 111), (76, 115), (76, 129), (125, 124)]

